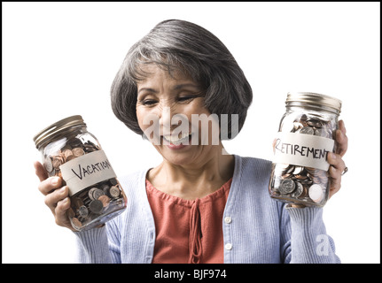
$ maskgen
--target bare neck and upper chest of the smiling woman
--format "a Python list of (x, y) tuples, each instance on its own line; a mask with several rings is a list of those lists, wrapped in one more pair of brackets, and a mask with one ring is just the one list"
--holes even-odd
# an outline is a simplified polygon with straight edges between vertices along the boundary
[(186, 200), (212, 194), (233, 175), (234, 157), (223, 155), (222, 149), (216, 146), (193, 164), (172, 164), (164, 159), (147, 178), (160, 191)]

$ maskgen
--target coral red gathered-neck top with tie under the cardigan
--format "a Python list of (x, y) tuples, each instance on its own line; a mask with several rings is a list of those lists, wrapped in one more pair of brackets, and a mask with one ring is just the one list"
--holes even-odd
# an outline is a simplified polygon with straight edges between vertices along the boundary
[(146, 180), (155, 222), (152, 264), (222, 264), (222, 217), (232, 178), (193, 201), (168, 195)]

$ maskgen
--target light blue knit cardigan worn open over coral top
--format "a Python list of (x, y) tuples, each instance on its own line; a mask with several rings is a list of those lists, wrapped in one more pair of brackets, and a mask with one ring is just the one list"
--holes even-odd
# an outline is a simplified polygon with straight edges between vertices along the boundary
[[(224, 263), (339, 263), (325, 231), (323, 209), (288, 208), (271, 199), (270, 171), (267, 160), (235, 156), (222, 218)], [(152, 263), (155, 225), (145, 190), (146, 172), (119, 178), (128, 197), (120, 216), (102, 228), (74, 233), (80, 263)]]

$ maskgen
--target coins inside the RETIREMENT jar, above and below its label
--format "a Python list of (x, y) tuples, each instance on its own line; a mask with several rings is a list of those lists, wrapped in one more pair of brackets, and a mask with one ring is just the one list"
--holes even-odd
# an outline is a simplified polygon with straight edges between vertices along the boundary
[[(312, 134), (333, 139), (335, 127), (331, 120), (301, 114), (292, 120), (284, 120), (283, 132)], [(293, 164), (273, 164), (269, 186), (270, 195), (292, 203), (322, 203), (328, 194), (328, 173), (311, 167)]]

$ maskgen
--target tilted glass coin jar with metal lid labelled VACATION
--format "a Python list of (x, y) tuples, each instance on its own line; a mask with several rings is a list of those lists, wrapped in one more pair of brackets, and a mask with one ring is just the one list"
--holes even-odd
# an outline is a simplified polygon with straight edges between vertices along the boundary
[(62, 177), (69, 188), (66, 214), (74, 229), (99, 226), (126, 209), (127, 198), (112, 165), (80, 115), (59, 120), (33, 140), (48, 175)]

